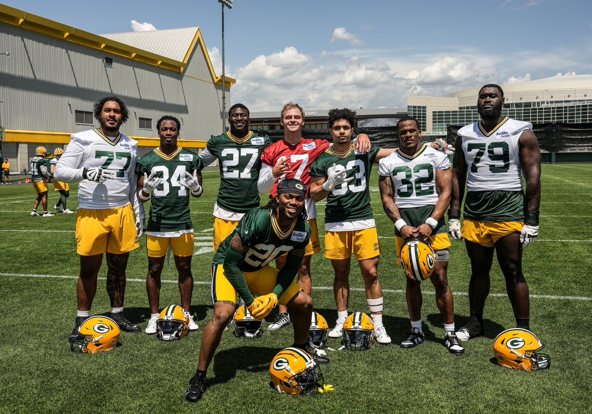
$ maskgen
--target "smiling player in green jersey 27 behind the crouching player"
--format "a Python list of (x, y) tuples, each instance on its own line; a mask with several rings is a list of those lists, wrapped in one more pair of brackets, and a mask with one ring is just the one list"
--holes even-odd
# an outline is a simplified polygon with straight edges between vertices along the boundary
[(218, 160), (220, 188), (214, 204), (214, 251), (218, 250), (244, 214), (259, 206), (257, 181), (261, 154), (271, 145), (268, 136), (249, 131), (249, 109), (234, 104), (228, 111), (230, 131), (212, 136), (200, 153), (204, 166)]

